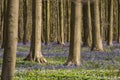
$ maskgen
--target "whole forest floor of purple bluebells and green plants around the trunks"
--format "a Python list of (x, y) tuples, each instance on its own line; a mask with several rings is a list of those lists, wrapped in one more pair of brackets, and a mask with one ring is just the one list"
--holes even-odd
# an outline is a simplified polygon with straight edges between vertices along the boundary
[[(30, 44), (18, 43), (15, 80), (120, 80), (120, 44), (103, 43), (103, 52), (91, 52), (81, 48), (81, 66), (63, 66), (69, 53), (69, 44), (42, 44), (42, 54), (48, 64), (23, 61), (29, 53)], [(0, 49), (0, 72), (3, 49)]]

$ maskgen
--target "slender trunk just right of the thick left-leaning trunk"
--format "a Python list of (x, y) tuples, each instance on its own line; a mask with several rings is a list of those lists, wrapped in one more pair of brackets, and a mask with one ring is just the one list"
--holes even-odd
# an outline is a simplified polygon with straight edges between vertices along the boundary
[(108, 13), (108, 16), (109, 16), (109, 25), (108, 25), (108, 40), (107, 40), (107, 44), (108, 45), (112, 45), (112, 40), (113, 40), (113, 0), (109, 0), (110, 3), (108, 4), (108, 8), (109, 8), (109, 13)]

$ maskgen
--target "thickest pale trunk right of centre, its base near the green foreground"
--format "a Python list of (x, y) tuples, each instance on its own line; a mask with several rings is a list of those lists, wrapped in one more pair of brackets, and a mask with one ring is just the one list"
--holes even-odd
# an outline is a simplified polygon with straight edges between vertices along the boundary
[[(71, 0), (72, 1), (72, 0)], [(82, 2), (81, 0), (72, 1), (71, 5), (71, 36), (68, 60), (65, 65), (79, 66), (80, 62), (80, 43), (82, 26)]]

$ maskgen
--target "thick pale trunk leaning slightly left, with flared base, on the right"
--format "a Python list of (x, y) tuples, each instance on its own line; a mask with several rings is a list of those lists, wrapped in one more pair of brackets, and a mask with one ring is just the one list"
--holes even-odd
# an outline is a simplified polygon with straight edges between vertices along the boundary
[(99, 0), (95, 0), (92, 5), (92, 51), (102, 51), (102, 39), (100, 36), (100, 17), (99, 17)]

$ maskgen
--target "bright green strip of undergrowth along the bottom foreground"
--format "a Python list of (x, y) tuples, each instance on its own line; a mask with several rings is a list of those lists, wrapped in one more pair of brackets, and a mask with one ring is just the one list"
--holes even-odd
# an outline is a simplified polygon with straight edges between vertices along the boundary
[(118, 70), (29, 70), (16, 72), (14, 80), (120, 80)]

